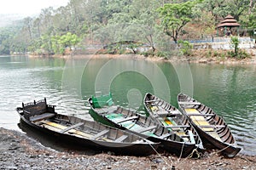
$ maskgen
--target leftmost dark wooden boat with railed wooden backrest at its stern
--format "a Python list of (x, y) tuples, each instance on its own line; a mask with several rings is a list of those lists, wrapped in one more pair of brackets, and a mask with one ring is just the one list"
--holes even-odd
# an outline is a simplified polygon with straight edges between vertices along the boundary
[(16, 109), (27, 125), (49, 135), (55, 135), (70, 144), (79, 144), (94, 150), (110, 150), (121, 155), (147, 156), (159, 146), (148, 139), (98, 122), (55, 112), (54, 105), (46, 99), (24, 104)]

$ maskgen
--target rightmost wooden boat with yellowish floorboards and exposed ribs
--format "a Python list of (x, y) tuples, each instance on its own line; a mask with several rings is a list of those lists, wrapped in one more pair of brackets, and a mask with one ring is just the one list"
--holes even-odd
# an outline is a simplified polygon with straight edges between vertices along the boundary
[(236, 146), (236, 140), (224, 119), (211, 108), (186, 94), (178, 94), (177, 103), (201, 136), (206, 148), (218, 149), (227, 157), (234, 157), (241, 150)]

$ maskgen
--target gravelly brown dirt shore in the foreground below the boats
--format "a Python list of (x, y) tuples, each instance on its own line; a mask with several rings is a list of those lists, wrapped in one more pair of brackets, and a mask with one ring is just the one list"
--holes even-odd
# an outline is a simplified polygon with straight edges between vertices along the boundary
[(26, 133), (0, 128), (0, 169), (256, 169), (256, 156), (238, 154), (227, 159), (214, 151), (200, 159), (169, 154), (114, 156), (113, 153), (85, 155), (57, 151), (40, 144)]

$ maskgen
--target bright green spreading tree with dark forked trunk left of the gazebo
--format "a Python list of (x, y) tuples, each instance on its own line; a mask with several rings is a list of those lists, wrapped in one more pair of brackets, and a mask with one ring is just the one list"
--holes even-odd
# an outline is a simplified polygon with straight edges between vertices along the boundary
[(188, 1), (186, 3), (167, 3), (157, 9), (163, 30), (166, 35), (173, 38), (174, 42), (177, 42), (183, 26), (192, 19), (192, 8), (194, 6), (195, 3)]

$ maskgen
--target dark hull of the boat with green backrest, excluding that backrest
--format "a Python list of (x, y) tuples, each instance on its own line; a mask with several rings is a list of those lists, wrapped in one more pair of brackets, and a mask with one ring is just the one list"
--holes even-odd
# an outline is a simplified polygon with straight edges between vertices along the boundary
[[(161, 150), (166, 150), (169, 153), (172, 153), (176, 156), (182, 156), (182, 157), (187, 157), (190, 156), (190, 154), (192, 153), (192, 151), (194, 149), (197, 148), (197, 146), (195, 144), (191, 144), (191, 143), (186, 143), (184, 141), (182, 141), (183, 139), (180, 139), (176, 134), (174, 133), (169, 133), (169, 131), (164, 128), (164, 127), (160, 127), (159, 125), (157, 125), (156, 122), (152, 121), (150, 117), (145, 117), (145, 116), (138, 116), (136, 112), (131, 111), (131, 110), (127, 110), (125, 108), (122, 108), (120, 106), (116, 106), (114, 107), (114, 105), (112, 105), (111, 107), (116, 108), (113, 111), (108, 111), (109, 108), (111, 107), (105, 107), (105, 108), (95, 108), (93, 106), (93, 102), (92, 99), (88, 99), (88, 102), (90, 104), (90, 115), (93, 114), (93, 118), (97, 121), (100, 121), (102, 123), (108, 123), (108, 125), (112, 126), (112, 127), (117, 127), (119, 129), (124, 129), (125, 131), (129, 132), (129, 133), (134, 133), (138, 136), (141, 136), (145, 139), (148, 139), (150, 141), (153, 141), (155, 143), (159, 143), (160, 142), (160, 149)], [(138, 129), (131, 129), (131, 128), (127, 128), (122, 126), (121, 123), (117, 123), (114, 122), (113, 120), (109, 119), (108, 113), (114, 113), (114, 114), (124, 114), (124, 116), (126, 118), (129, 119), (129, 117), (133, 117), (133, 116), (137, 116), (138, 119), (135, 121), (134, 123), (137, 124), (138, 122), (140, 122), (140, 124), (147, 124), (147, 127), (152, 127), (152, 126), (156, 126), (153, 131), (156, 131), (156, 133), (159, 133), (160, 135), (158, 137), (155, 136), (151, 136), (145, 133), (139, 133), (137, 130)], [(150, 132), (153, 132), (150, 131)], [(149, 133), (150, 133), (149, 132)], [(170, 137), (169, 139), (161, 139), (161, 134), (165, 133), (165, 134), (169, 134)], [(155, 133), (154, 133), (155, 134)], [(160, 151), (160, 150), (159, 150)]]

